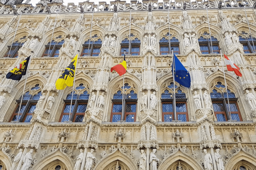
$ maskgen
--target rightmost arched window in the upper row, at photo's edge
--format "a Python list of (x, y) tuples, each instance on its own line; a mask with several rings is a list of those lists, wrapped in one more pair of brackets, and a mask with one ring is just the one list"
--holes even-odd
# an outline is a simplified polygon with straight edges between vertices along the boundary
[(242, 31), (239, 37), (239, 42), (243, 45), (244, 53), (255, 53), (256, 38), (252, 38), (248, 33)]

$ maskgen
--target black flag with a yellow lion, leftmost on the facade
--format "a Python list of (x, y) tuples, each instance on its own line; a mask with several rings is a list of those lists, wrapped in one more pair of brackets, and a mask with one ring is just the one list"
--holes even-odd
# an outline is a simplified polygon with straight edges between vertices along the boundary
[(26, 75), (30, 56), (13, 68), (6, 74), (6, 78), (12, 80), (20, 80), (23, 75)]

